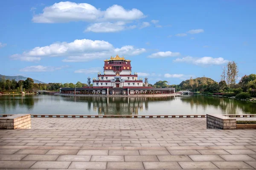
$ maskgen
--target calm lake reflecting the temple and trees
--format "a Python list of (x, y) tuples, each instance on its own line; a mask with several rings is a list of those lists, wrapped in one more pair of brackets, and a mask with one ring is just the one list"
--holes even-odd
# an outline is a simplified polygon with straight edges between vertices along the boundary
[(0, 113), (31, 114), (256, 114), (256, 103), (209, 96), (0, 96)]

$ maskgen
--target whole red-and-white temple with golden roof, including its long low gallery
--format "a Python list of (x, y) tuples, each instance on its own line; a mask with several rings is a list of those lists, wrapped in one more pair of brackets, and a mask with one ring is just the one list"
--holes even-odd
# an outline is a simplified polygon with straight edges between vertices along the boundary
[(104, 60), (103, 74), (98, 73), (97, 78), (87, 78), (87, 87), (83, 88), (60, 88), (61, 94), (75, 95), (158, 95), (174, 94), (175, 88), (148, 87), (148, 78), (138, 78), (135, 72), (131, 74), (131, 60), (124, 57), (111, 57)]

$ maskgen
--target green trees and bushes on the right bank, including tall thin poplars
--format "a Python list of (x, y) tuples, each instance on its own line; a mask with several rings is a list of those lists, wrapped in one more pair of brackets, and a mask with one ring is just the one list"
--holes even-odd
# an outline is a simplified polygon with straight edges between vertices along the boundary
[[(188, 90), (192, 92), (201, 92), (202, 94), (227, 93), (228, 96), (241, 94), (242, 98), (256, 97), (256, 74), (244, 75), (237, 83), (239, 69), (237, 63), (232, 61), (224, 66), (221, 74), (221, 81), (216, 82), (208, 77), (198, 77), (182, 81), (179, 85), (168, 85), (167, 81), (158, 81), (154, 88), (173, 87), (176, 91)], [(240, 95), (240, 96), (241, 96)]]

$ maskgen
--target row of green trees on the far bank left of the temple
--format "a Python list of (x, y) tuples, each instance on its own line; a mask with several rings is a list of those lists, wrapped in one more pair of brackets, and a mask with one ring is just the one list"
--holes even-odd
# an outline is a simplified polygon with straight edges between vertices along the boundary
[(34, 80), (31, 78), (27, 78), (24, 80), (19, 80), (18, 82), (15, 79), (9, 80), (5, 79), (5, 77), (0, 78), (0, 91), (38, 91), (38, 90), (47, 90), (47, 91), (58, 91), (61, 87), (69, 87), (69, 88), (82, 88), (87, 86), (85, 83), (77, 82), (76, 84), (73, 83), (34, 83)]

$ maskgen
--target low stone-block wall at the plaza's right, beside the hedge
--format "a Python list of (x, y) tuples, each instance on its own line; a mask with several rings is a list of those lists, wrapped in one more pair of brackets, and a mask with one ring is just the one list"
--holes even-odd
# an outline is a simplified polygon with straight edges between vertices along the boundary
[(236, 129), (236, 118), (218, 114), (207, 114), (207, 129)]

